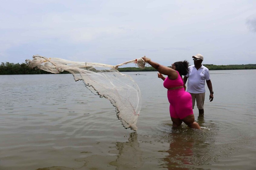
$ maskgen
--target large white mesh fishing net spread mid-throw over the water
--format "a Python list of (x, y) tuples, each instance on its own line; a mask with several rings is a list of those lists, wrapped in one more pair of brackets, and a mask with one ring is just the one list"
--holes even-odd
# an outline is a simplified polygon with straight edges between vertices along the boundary
[[(145, 61), (149, 60), (146, 58)], [(67, 71), (73, 74), (75, 81), (82, 80), (92, 93), (110, 100), (122, 125), (136, 131), (141, 110), (141, 91), (130, 76), (120, 73), (117, 68), (129, 63), (144, 68), (145, 61), (139, 58), (112, 66), (34, 55), (33, 60), (26, 60), (26, 63), (30, 68), (36, 67), (51, 73)]]

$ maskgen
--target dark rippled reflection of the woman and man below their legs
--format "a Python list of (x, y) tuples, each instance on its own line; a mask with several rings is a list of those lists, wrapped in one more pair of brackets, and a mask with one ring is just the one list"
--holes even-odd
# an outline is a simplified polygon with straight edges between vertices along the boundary
[[(160, 130), (164, 131), (164, 139), (169, 142), (168, 150), (159, 152), (168, 153), (162, 158), (161, 167), (169, 169), (200, 169), (200, 166), (211, 165), (218, 162), (219, 156), (213, 151), (216, 149), (212, 144), (216, 141), (216, 133), (209, 129), (215, 129), (214, 124), (204, 124), (203, 116), (199, 117), (201, 130), (190, 129), (186, 125), (173, 128), (169, 124), (163, 124)], [(170, 129), (166, 132), (165, 129)]]

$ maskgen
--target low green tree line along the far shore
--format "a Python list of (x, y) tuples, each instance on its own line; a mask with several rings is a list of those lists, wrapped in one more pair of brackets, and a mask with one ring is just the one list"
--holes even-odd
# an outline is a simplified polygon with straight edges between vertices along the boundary
[[(204, 64), (209, 70), (251, 70), (256, 69), (256, 64), (241, 64), (241, 65), (214, 65)], [(153, 67), (145, 67), (144, 69), (138, 67), (124, 67), (118, 68), (120, 72), (143, 72), (143, 71), (156, 71)], [(62, 74), (68, 73), (66, 71), (61, 72)], [(26, 63), (1, 63), (0, 75), (13, 75), (13, 74), (52, 74), (50, 72), (29, 68)]]

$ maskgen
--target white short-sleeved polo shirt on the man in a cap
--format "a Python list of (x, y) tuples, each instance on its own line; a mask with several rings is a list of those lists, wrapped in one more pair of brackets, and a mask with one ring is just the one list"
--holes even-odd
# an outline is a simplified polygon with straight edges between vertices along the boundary
[(189, 66), (187, 92), (189, 93), (205, 93), (205, 80), (209, 80), (210, 74), (208, 68), (201, 66), (196, 70), (195, 65)]

